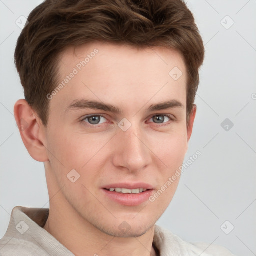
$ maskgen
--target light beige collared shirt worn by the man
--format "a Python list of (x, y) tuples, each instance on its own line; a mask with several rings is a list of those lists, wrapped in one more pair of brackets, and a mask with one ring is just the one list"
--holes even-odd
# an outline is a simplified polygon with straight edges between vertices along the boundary
[[(48, 208), (16, 206), (5, 235), (0, 239), (1, 256), (73, 256), (43, 226)], [(226, 248), (207, 243), (188, 243), (165, 228), (155, 225), (154, 246), (160, 256), (233, 256)]]

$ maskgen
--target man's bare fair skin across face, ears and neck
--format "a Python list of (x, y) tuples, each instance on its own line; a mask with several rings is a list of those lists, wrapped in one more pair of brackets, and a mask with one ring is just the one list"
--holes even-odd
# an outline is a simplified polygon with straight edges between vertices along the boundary
[[(16, 121), (27, 122), (20, 134), (29, 154), (45, 166), (50, 211), (44, 229), (75, 255), (156, 255), (154, 225), (179, 177), (154, 202), (138, 206), (114, 202), (101, 188), (145, 182), (154, 194), (182, 165), (196, 113), (194, 105), (186, 123), (185, 64), (172, 49), (96, 42), (62, 52), (59, 82), (94, 48), (99, 52), (50, 100), (46, 127), (24, 99), (14, 106)], [(169, 75), (175, 66), (183, 72), (176, 81)], [(66, 110), (77, 99), (112, 104), (122, 112)], [(147, 110), (167, 100), (183, 107)], [(89, 114), (104, 118), (93, 126), (84, 119)], [(126, 131), (118, 127), (123, 118), (131, 123)], [(72, 169), (80, 174), (74, 183), (67, 178)], [(123, 221), (130, 227), (125, 232), (118, 228)]]

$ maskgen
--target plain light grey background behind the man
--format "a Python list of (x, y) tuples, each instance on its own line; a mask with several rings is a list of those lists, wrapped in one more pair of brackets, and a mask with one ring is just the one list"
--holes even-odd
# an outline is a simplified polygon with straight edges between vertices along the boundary
[[(40, 2), (0, 0), (0, 237), (14, 206), (49, 207), (43, 163), (26, 151), (13, 116), (15, 101), (23, 98), (13, 61), (21, 32), (15, 21), (27, 17)], [(256, 0), (188, 0), (187, 4), (206, 55), (184, 162), (197, 150), (202, 154), (183, 172), (158, 224), (190, 242), (256, 255)], [(233, 127), (230, 121), (224, 124), (228, 127), (221, 126), (226, 118)], [(232, 226), (229, 234), (223, 232)]]

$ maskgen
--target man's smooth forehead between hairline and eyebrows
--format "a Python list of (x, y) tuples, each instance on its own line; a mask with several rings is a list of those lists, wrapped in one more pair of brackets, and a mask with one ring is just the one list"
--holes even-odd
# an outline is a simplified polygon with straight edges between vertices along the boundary
[(63, 86), (50, 102), (54, 107), (79, 98), (130, 108), (169, 99), (185, 105), (186, 67), (173, 49), (102, 42), (69, 47), (59, 55), (58, 73), (56, 87)]

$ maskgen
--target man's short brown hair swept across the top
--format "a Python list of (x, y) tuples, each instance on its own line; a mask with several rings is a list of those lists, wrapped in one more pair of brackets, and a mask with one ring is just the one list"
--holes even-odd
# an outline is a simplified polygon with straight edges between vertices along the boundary
[(46, 126), (50, 93), (57, 84), (58, 55), (96, 40), (178, 50), (187, 68), (186, 114), (199, 84), (204, 46), (182, 0), (46, 0), (28, 16), (15, 49), (24, 96)]

